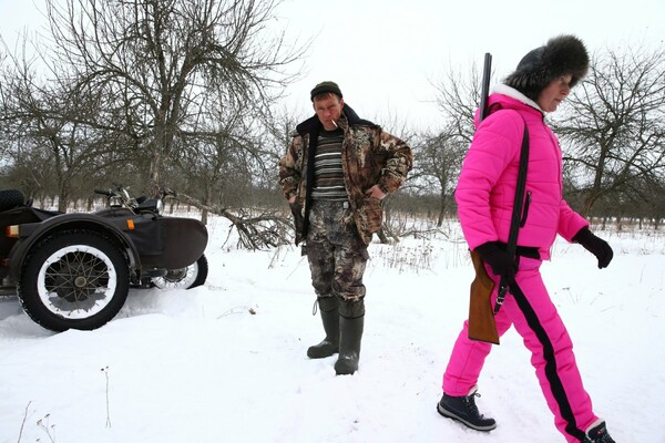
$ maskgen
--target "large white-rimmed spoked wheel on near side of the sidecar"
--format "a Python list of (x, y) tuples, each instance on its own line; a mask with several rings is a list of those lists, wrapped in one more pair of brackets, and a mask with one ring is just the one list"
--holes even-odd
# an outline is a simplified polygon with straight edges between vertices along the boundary
[(18, 295), (25, 312), (54, 331), (91, 330), (123, 307), (130, 286), (124, 255), (92, 231), (63, 231), (32, 248)]

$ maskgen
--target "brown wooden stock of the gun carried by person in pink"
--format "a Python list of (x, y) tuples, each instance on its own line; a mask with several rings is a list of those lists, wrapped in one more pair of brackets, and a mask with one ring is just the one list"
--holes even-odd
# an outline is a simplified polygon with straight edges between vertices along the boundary
[(492, 290), (494, 280), (488, 272), (480, 258), (480, 254), (471, 251), (471, 261), (475, 270), (475, 278), (471, 282), (471, 300), (469, 302), (469, 338), (499, 344), (499, 333), (492, 309)]

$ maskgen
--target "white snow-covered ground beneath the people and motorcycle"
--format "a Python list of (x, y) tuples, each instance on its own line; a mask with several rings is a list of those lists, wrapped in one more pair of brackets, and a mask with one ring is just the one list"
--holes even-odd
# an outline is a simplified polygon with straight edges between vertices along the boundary
[[(352, 377), (305, 354), (323, 328), (299, 250), (236, 250), (223, 219), (208, 229), (204, 287), (133, 290), (99, 330), (53, 333), (0, 299), (0, 442), (563, 441), (512, 330), (479, 383), (498, 427), (436, 412), (472, 279), (457, 225), (370, 247)], [(607, 269), (561, 240), (543, 275), (614, 439), (664, 443), (665, 233), (596, 233), (615, 250)]]

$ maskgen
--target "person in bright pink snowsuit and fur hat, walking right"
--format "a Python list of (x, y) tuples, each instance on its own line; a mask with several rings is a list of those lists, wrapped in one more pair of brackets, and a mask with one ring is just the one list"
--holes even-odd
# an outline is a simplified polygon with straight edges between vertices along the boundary
[[(598, 419), (582, 384), (573, 343), (545, 286), (540, 266), (561, 235), (593, 253), (598, 268), (612, 260), (610, 245), (589, 229), (589, 223), (563, 199), (562, 154), (544, 114), (556, 110), (589, 69), (586, 48), (576, 37), (560, 35), (530, 51), (489, 100), (489, 115), (478, 126), (460, 173), (456, 200), (470, 250), (482, 257), (494, 280), (497, 302), (501, 277), (510, 286), (495, 315), (497, 330), (511, 326), (531, 351), (554, 423), (567, 442), (614, 442)], [(507, 243), (515, 196), (520, 151), (525, 127), (529, 164), (518, 254)], [(464, 322), (443, 374), (439, 413), (478, 431), (491, 431), (493, 419), (475, 405), (477, 382), (491, 344), (473, 341)]]

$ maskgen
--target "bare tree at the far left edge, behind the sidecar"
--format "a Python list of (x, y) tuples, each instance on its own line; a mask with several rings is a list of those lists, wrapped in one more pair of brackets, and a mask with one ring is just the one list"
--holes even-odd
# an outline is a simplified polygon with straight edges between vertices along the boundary
[[(65, 212), (71, 198), (80, 197), (88, 177), (125, 163), (117, 150), (121, 138), (108, 137), (91, 115), (102, 113), (99, 96), (86, 90), (71, 91), (61, 73), (51, 81), (39, 79), (34, 59), (22, 52), (4, 59), (0, 73), (2, 154), (30, 196), (48, 192), (59, 196)], [(108, 125), (117, 122), (105, 113)]]

